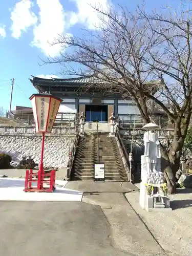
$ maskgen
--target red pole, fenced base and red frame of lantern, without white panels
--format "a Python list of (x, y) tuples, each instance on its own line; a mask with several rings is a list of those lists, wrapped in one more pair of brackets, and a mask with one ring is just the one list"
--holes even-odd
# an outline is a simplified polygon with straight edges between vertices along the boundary
[[(33, 94), (31, 96), (34, 97), (35, 94)], [(54, 98), (51, 95), (42, 95), (42, 94), (37, 94), (36, 97), (50, 97), (50, 98)], [(31, 99), (30, 98), (30, 99)], [(59, 105), (60, 102), (62, 101), (61, 99), (55, 98), (59, 101)], [(51, 102), (51, 99), (50, 99)], [(58, 108), (59, 108), (58, 105)], [(56, 110), (56, 114), (58, 111), (58, 108)], [(36, 106), (35, 106), (36, 109)], [(49, 111), (50, 111), (50, 106), (49, 106)], [(54, 119), (52, 119), (52, 125), (55, 121), (56, 118), (56, 114)], [(54, 121), (53, 121), (54, 120)], [(52, 129), (52, 126), (50, 128), (50, 131)], [(42, 132), (42, 141), (41, 141), (41, 156), (40, 156), (40, 164), (39, 164), (39, 170), (36, 173), (33, 173), (33, 170), (26, 170), (26, 178), (25, 178), (25, 188), (24, 191), (25, 192), (53, 192), (55, 189), (55, 176), (56, 176), (56, 170), (51, 170), (50, 173), (45, 173), (45, 169), (43, 167), (43, 159), (44, 159), (44, 145), (45, 145), (45, 132)], [(34, 178), (37, 176), (37, 179)], [(46, 179), (48, 177), (49, 179)], [(33, 184), (36, 184), (35, 187), (33, 187)], [(46, 185), (46, 186), (44, 186)]]

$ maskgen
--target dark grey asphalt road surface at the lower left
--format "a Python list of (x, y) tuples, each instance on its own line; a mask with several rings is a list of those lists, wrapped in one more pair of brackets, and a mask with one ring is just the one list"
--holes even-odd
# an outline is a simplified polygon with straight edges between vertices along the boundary
[(1, 255), (131, 256), (112, 247), (110, 224), (98, 205), (2, 201), (0, 219)]

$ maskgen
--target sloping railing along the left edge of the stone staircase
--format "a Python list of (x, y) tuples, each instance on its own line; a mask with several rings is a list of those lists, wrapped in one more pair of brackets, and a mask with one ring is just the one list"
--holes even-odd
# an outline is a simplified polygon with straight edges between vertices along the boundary
[(71, 152), (69, 152), (69, 161), (67, 164), (67, 180), (69, 181), (71, 178), (71, 171), (72, 171), (72, 167), (73, 167), (73, 162), (75, 159), (75, 154), (76, 154), (76, 149), (79, 143), (79, 115), (76, 114), (75, 115), (75, 120), (74, 120), (74, 125), (75, 125), (75, 131), (76, 131), (76, 137), (75, 137), (75, 141), (73, 143)]

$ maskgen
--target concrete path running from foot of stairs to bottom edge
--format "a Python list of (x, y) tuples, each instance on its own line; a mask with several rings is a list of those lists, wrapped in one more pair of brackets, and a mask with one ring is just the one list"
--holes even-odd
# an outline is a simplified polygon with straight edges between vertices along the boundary
[(137, 256), (167, 255), (124, 197), (124, 193), (138, 190), (133, 184), (72, 181), (66, 188), (84, 191), (83, 202), (100, 206), (97, 207), (103, 211), (111, 227), (114, 248)]

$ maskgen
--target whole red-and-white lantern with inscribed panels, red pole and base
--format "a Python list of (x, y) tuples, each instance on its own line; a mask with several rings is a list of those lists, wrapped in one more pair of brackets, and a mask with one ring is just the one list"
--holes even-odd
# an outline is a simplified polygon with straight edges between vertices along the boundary
[[(39, 120), (38, 120), (38, 116), (37, 116), (37, 107), (38, 104), (36, 104), (36, 99), (34, 99), (35, 97), (38, 98), (46, 98), (49, 97), (49, 109), (48, 109), (48, 113), (47, 113), (47, 120), (46, 120), (46, 127), (45, 127), (45, 132), (40, 132), (39, 131)], [(26, 170), (26, 177), (25, 177), (25, 188), (24, 191), (25, 192), (53, 192), (55, 189), (55, 176), (56, 176), (56, 170), (51, 170), (50, 173), (45, 173), (45, 169), (43, 167), (43, 158), (44, 158), (44, 146), (45, 146), (45, 133), (51, 133), (52, 130), (52, 126), (54, 124), (55, 118), (56, 118), (56, 114), (58, 112), (59, 109), (59, 105), (60, 102), (62, 101), (59, 98), (53, 97), (50, 94), (33, 94), (30, 97), (30, 100), (34, 99), (35, 102), (35, 106), (33, 105), (33, 115), (34, 117), (37, 118), (37, 120), (35, 120), (35, 124), (36, 124), (36, 130), (38, 130), (38, 132), (42, 133), (42, 141), (41, 141), (41, 157), (40, 157), (40, 164), (39, 164), (39, 170), (36, 173), (33, 173), (33, 170)], [(57, 100), (57, 103), (59, 102), (59, 104), (57, 104), (57, 108), (56, 110), (52, 111), (51, 110), (51, 100), (55, 99), (55, 102)], [(36, 111), (36, 113), (34, 113)], [(49, 121), (49, 117), (50, 117), (50, 112), (52, 111), (52, 119), (51, 120), (51, 124), (49, 127), (49, 131), (48, 131), (48, 121)], [(54, 113), (54, 114), (53, 114)], [(54, 115), (54, 116), (53, 116)], [(35, 118), (34, 118), (35, 119)], [(37, 176), (37, 178), (36, 178)], [(35, 177), (35, 178), (34, 178)], [(46, 178), (49, 178), (48, 180)], [(33, 184), (36, 184), (36, 187), (33, 187)], [(45, 186), (46, 185), (46, 186)]]

